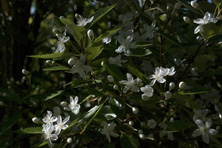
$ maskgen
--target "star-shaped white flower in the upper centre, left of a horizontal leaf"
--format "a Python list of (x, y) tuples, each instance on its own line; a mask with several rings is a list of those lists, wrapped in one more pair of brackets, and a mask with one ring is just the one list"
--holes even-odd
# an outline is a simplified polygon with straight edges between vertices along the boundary
[(131, 53), (130, 48), (134, 48), (131, 45), (132, 40), (133, 40), (133, 35), (127, 36), (126, 39), (124, 39), (122, 36), (119, 36), (118, 41), (121, 45), (115, 51), (117, 53), (124, 52), (126, 56), (129, 56)]

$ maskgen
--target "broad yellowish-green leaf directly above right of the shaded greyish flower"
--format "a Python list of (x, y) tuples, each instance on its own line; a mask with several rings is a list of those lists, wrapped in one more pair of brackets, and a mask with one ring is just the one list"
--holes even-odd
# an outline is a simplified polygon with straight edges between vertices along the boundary
[(93, 59), (95, 59), (97, 56), (99, 56), (101, 54), (101, 52), (103, 51), (103, 45), (102, 43), (97, 43), (94, 44), (88, 48), (86, 48), (85, 53), (86, 53), (86, 58), (89, 61), (92, 61)]

